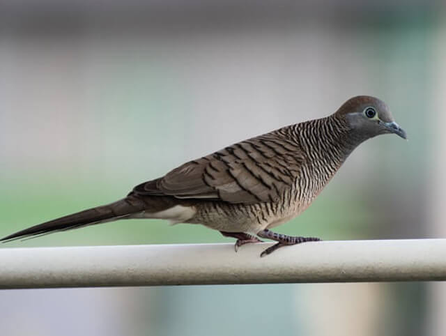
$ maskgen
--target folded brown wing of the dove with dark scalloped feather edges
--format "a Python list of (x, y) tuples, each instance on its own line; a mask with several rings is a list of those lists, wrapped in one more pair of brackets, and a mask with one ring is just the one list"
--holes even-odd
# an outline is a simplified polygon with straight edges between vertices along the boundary
[(297, 144), (270, 133), (186, 162), (134, 192), (233, 204), (277, 201), (299, 175), (303, 160)]

